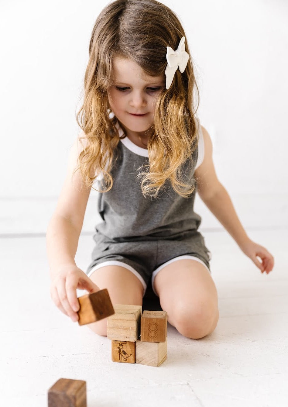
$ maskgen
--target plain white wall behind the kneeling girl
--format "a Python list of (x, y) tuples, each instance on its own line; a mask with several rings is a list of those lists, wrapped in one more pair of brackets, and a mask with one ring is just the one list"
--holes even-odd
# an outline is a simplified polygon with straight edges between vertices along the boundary
[[(162, 1), (196, 66), (198, 116), (246, 229), (288, 225), (288, 4)], [(92, 28), (107, 1), (0, 1), (0, 233), (45, 233), (78, 135)], [(98, 221), (89, 198), (83, 232)], [(221, 227), (196, 197), (201, 228)]]

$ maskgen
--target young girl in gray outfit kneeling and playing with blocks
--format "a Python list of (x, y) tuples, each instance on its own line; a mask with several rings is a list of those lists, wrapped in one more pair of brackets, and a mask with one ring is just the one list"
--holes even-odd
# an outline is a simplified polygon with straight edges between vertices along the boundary
[[(151, 279), (168, 322), (186, 337), (204, 337), (218, 322), (218, 298), (193, 211), (196, 190), (261, 272), (274, 260), (249, 239), (216, 176), (175, 13), (155, 0), (108, 4), (93, 28), (84, 82), (82, 132), (47, 230), (52, 300), (77, 321), (76, 288), (107, 288), (113, 304), (141, 305)], [(85, 273), (74, 257), (91, 188), (100, 192), (103, 221)], [(106, 325), (88, 326), (107, 335)]]

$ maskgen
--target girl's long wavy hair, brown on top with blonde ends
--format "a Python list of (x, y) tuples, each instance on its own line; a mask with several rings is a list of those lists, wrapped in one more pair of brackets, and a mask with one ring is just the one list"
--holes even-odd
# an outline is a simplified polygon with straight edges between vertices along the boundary
[[(113, 57), (129, 58), (145, 74), (165, 77), (167, 46), (176, 50), (183, 36), (183, 27), (175, 13), (155, 0), (117, 0), (98, 16), (89, 44), (84, 102), (76, 116), (84, 133), (80, 139), (85, 139), (76, 170), (80, 170), (85, 186), (92, 186), (101, 171), (106, 188), (99, 192), (107, 192), (113, 186), (110, 172), (117, 160), (114, 151), (120, 141), (117, 118), (111, 120), (108, 113), (107, 90), (114, 79)], [(187, 43), (185, 50), (190, 55)], [(197, 145), (198, 106), (195, 112), (192, 110), (194, 87), (199, 100), (190, 57), (182, 74), (177, 69), (170, 88), (158, 93), (148, 140), (149, 164), (140, 167), (142, 172), (137, 175), (145, 197), (157, 197), (169, 181), (182, 197), (188, 197), (195, 189), (194, 185), (185, 183), (181, 171), (185, 162), (192, 164)], [(125, 129), (122, 130), (126, 137)]]

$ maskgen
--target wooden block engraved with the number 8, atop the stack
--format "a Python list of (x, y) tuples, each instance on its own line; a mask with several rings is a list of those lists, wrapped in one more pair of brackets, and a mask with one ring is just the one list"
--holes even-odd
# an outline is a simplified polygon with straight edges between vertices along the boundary
[(165, 342), (167, 337), (166, 311), (143, 311), (141, 317), (141, 341)]

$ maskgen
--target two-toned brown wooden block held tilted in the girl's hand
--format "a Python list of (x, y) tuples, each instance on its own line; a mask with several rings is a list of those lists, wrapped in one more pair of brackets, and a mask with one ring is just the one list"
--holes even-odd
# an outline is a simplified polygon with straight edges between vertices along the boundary
[(78, 298), (78, 324), (85, 325), (113, 315), (114, 309), (107, 288)]

